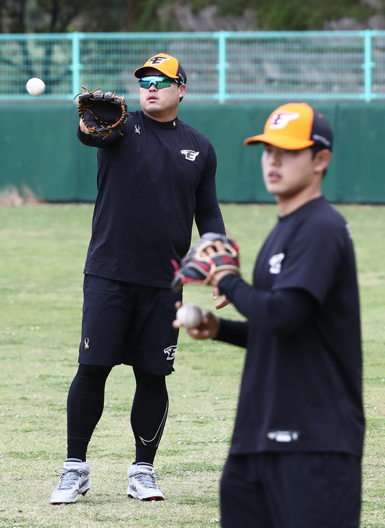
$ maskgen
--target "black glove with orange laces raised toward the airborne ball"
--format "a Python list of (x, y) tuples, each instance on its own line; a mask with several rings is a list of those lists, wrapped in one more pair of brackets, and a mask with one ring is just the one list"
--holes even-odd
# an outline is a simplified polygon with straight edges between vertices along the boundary
[(75, 95), (78, 97), (78, 113), (85, 126), (93, 136), (105, 139), (114, 130), (122, 135), (122, 128), (129, 117), (124, 96), (118, 97), (115, 92), (102, 92), (100, 88)]

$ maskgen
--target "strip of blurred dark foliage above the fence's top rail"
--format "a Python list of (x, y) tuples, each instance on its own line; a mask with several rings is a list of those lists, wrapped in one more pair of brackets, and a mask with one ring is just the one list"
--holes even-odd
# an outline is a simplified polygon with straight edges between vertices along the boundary
[(1, 33), (385, 29), (385, 0), (0, 0)]

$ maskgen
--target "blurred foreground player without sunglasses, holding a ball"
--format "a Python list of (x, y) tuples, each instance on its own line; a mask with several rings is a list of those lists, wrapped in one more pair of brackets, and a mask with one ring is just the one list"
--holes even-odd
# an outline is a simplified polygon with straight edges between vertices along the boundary
[[(349, 225), (321, 194), (331, 127), (309, 105), (285, 104), (263, 134), (245, 139), (260, 143), (278, 222), (256, 260), (252, 286), (234, 269), (214, 272), (209, 283), (246, 321), (208, 312), (188, 330), (247, 349), (221, 477), (221, 526), (358, 528), (360, 306)], [(217, 240), (204, 254), (223, 247)], [(181, 271), (183, 283), (188, 269)]]

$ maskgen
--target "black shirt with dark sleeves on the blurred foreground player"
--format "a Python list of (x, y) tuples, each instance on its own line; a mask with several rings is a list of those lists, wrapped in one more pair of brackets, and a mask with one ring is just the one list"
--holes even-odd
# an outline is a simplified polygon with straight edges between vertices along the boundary
[(252, 286), (219, 282), (247, 321), (218, 338), (246, 346), (230, 452), (362, 455), (362, 348), (355, 255), (346, 220), (320, 197), (279, 218)]

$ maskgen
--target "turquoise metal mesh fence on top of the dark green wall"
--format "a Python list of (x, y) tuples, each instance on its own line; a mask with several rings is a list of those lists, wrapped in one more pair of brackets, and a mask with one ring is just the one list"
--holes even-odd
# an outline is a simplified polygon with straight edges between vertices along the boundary
[(137, 100), (133, 70), (153, 54), (177, 56), (186, 102), (385, 100), (385, 31), (68, 33), (0, 35), (0, 100), (72, 100), (81, 86)]

